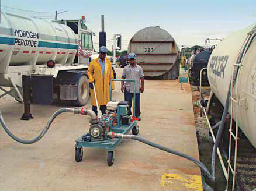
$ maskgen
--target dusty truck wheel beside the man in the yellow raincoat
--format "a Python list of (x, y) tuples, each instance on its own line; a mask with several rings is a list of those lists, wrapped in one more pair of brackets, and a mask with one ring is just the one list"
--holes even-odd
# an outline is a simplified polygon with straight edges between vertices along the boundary
[(89, 82), (85, 75), (82, 75), (77, 83), (77, 101), (74, 101), (75, 106), (83, 106), (89, 98)]

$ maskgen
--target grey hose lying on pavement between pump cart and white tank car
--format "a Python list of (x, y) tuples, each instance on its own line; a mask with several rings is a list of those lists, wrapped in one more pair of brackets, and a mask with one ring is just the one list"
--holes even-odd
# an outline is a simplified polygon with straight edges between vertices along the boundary
[(197, 164), (204, 172), (206, 172), (206, 175), (208, 176), (208, 178), (210, 179), (210, 181), (214, 181), (214, 177), (210, 174), (210, 172), (209, 172), (208, 169), (205, 167), (205, 165), (204, 165), (202, 162), (196, 160), (195, 158), (192, 158), (192, 157), (190, 157), (189, 155), (184, 154), (184, 153), (181, 153), (181, 152), (179, 152), (179, 151), (172, 150), (171, 148), (167, 148), (167, 147), (161, 146), (160, 144), (155, 144), (155, 143), (150, 142), (149, 140), (143, 139), (142, 137), (139, 137), (139, 136), (132, 135), (132, 136), (131, 136), (131, 139), (133, 139), (133, 140), (138, 140), (139, 142), (148, 144), (148, 145), (151, 146), (151, 147), (158, 148), (158, 149), (160, 149), (160, 150), (166, 151), (166, 152), (171, 153), (171, 154), (178, 155), (179, 157), (186, 158), (186, 159), (188, 159), (188, 160), (194, 162), (194, 163)]

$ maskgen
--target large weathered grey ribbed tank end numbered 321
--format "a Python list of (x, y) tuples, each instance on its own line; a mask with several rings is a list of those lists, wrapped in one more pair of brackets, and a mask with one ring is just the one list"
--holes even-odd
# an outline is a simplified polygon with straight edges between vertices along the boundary
[(160, 27), (137, 31), (128, 45), (137, 55), (137, 64), (147, 77), (175, 80), (179, 75), (179, 48), (174, 38)]

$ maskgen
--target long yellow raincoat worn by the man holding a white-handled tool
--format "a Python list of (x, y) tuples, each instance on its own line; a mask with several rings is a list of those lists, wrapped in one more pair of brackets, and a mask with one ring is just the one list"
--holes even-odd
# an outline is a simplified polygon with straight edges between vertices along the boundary
[[(103, 89), (103, 78), (101, 72), (101, 65), (99, 64), (99, 57), (94, 59), (87, 70), (89, 77), (89, 83), (95, 80), (95, 90), (98, 100), (98, 105), (106, 105), (110, 101), (110, 82), (114, 78), (112, 64), (108, 58), (105, 58), (105, 73), (104, 73), (104, 89)], [(113, 87), (113, 86), (112, 86)], [(91, 103), (96, 106), (94, 90), (90, 89)]]

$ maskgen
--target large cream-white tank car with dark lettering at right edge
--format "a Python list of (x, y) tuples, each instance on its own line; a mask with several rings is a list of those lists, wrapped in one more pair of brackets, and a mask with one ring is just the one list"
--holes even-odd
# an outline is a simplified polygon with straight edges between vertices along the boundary
[[(234, 83), (234, 94), (241, 100), (236, 119), (236, 107), (233, 107), (233, 119), (247, 136), (248, 140), (256, 148), (256, 125), (255, 125), (255, 97), (256, 97), (256, 37), (254, 25), (237, 31), (221, 41), (210, 56), (207, 75), (213, 93), (225, 104), (233, 64), (241, 62), (240, 77)], [(247, 41), (247, 34), (254, 29), (254, 33)], [(245, 43), (247, 41), (247, 43)], [(245, 43), (245, 46), (244, 46)], [(240, 52), (243, 47), (244, 51)], [(239, 61), (239, 58), (241, 60)], [(237, 90), (238, 86), (238, 90)], [(230, 109), (229, 109), (230, 112)]]

